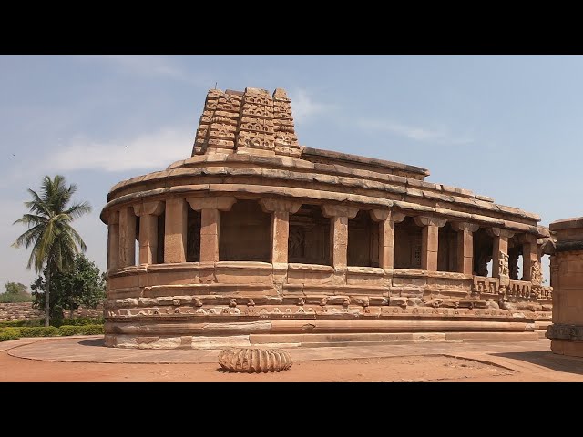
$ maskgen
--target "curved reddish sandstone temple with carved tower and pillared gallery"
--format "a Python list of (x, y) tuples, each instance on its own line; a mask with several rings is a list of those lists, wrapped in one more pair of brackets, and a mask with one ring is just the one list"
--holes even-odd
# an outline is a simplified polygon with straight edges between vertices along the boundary
[(107, 345), (537, 338), (548, 229), (428, 175), (300, 146), (282, 89), (210, 90), (192, 156), (107, 196)]

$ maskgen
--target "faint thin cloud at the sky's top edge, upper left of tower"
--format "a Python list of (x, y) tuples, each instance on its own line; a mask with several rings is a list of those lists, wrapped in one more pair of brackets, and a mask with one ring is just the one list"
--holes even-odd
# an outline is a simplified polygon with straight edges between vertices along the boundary
[(198, 86), (209, 86), (208, 80), (196, 74), (187, 73), (174, 59), (159, 55), (83, 55), (80, 59), (104, 62), (118, 67), (122, 71), (138, 76), (166, 77), (190, 82)]

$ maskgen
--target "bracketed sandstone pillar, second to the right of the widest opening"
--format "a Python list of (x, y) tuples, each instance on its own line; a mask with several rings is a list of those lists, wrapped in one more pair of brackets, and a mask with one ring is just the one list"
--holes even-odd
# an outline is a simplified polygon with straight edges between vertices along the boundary
[(330, 219), (332, 267), (336, 270), (345, 270), (348, 256), (348, 220), (356, 217), (358, 208), (342, 205), (322, 205), (322, 214)]

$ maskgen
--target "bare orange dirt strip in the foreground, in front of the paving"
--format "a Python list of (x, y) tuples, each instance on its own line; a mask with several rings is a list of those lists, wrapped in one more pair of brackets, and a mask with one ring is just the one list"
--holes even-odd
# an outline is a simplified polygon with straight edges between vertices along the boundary
[[(36, 361), (0, 352), (0, 381), (413, 382), (534, 381), (477, 361), (445, 356), (296, 361), (280, 373), (228, 373), (218, 364), (125, 364)], [(540, 381), (537, 378), (536, 381)]]

